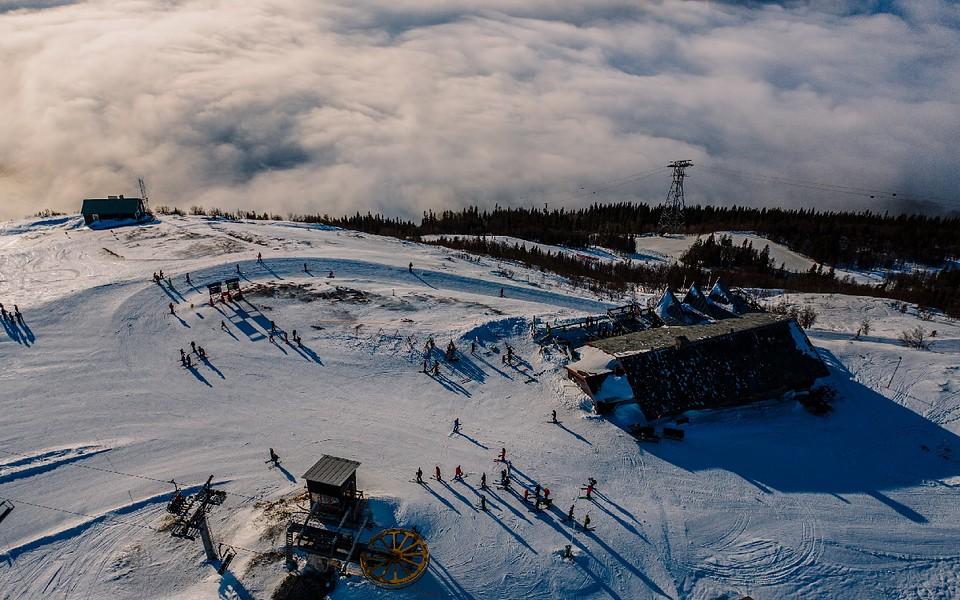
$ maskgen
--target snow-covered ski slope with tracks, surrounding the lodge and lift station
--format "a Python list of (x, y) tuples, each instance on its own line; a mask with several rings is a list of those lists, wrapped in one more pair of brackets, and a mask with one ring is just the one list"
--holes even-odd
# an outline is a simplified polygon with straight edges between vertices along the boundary
[[(238, 264), (246, 301), (205, 304), (203, 284)], [(150, 281), (160, 269), (173, 290)], [(618, 427), (624, 415), (585, 410), (563, 359), (528, 335), (534, 317), (607, 304), (510, 271), (291, 223), (5, 224), (0, 302), (26, 325), (0, 331), (0, 497), (16, 504), (0, 523), (0, 597), (269, 598), (285, 572), (265, 503), (298, 493), (324, 453), (362, 463), (378, 526), (415, 526), (431, 549), (415, 585), (352, 578), (334, 598), (960, 595), (955, 322), (882, 300), (790, 297), (820, 313), (809, 334), (840, 392), (832, 415), (793, 402), (702, 412), (684, 442), (640, 446)], [(852, 339), (864, 316), (870, 335)], [(271, 344), (270, 321), (304, 348)], [(896, 341), (918, 324), (937, 330), (930, 351)], [(421, 373), (428, 337), (454, 340), (463, 360)], [(209, 364), (180, 365), (190, 341)], [(454, 418), (463, 435), (450, 435)], [(271, 447), (282, 469), (264, 464)], [(551, 489), (554, 510), (498, 489), (477, 510), (501, 447), (519, 484)], [(468, 476), (411, 482), (436, 465)], [(215, 540), (240, 548), (224, 576), (199, 542), (164, 531), (165, 482), (195, 490), (211, 474), (229, 492), (210, 513)], [(596, 500), (577, 499), (589, 477)], [(571, 503), (594, 531), (563, 521)], [(568, 543), (572, 561), (559, 556)]]

